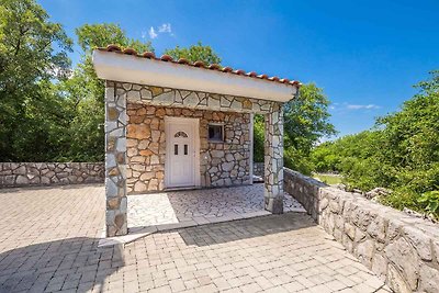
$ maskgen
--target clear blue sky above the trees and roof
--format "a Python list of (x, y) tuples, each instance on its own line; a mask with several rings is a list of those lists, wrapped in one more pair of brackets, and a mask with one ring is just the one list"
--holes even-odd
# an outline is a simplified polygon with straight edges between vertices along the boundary
[(225, 66), (314, 81), (339, 135), (396, 111), (439, 69), (437, 0), (38, 2), (71, 37), (85, 23), (114, 22), (158, 54), (202, 41)]

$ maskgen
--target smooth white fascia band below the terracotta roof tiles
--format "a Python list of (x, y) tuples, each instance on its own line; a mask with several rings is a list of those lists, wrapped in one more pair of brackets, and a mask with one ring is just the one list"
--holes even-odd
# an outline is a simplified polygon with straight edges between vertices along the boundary
[[(120, 53), (120, 50), (119, 50)], [(229, 94), (260, 100), (288, 102), (297, 93), (300, 82), (286, 79), (245, 75), (241, 70), (216, 70), (156, 59), (136, 54), (94, 50), (98, 77), (105, 80), (157, 86), (172, 89)], [(201, 65), (200, 65), (201, 66)], [(215, 67), (216, 68), (216, 67)]]

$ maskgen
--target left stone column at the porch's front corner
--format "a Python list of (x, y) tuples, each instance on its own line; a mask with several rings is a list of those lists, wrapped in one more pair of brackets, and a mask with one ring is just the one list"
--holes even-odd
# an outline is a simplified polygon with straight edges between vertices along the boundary
[(126, 93), (105, 86), (105, 230), (108, 237), (128, 232), (126, 218)]

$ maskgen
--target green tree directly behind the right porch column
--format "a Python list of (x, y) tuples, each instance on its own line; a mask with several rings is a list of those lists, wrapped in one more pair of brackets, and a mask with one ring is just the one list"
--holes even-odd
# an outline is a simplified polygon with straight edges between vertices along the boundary
[[(284, 165), (309, 174), (314, 167), (309, 159), (312, 147), (324, 136), (336, 133), (329, 123), (329, 101), (314, 83), (303, 84), (300, 95), (284, 104)], [(255, 119), (255, 160), (263, 161), (262, 116)]]

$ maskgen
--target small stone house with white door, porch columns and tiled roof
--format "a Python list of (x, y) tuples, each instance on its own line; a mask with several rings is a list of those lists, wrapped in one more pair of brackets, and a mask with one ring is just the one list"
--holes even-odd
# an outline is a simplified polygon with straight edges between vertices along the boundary
[(266, 209), (282, 213), (282, 103), (300, 82), (110, 45), (105, 80), (106, 235), (124, 235), (126, 195), (252, 183), (252, 117), (266, 117)]

